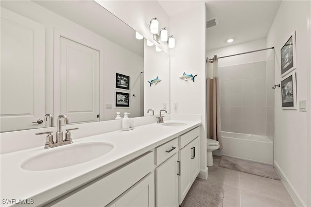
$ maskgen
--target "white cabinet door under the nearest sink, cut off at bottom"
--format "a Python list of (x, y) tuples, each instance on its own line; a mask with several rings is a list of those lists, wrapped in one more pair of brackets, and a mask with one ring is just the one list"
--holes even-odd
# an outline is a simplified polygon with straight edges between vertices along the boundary
[(124, 192), (112, 207), (154, 207), (154, 189), (154, 173), (151, 173)]

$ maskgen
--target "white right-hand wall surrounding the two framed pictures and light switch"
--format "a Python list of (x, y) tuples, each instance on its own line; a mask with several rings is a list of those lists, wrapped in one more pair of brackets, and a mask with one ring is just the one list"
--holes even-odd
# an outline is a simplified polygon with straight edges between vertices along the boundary
[[(297, 54), (297, 102), (308, 100), (310, 94), (310, 65), (307, 51), (310, 33), (308, 33), (309, 1), (282, 1), (271, 29), (267, 35), (267, 47), (275, 47), (275, 84), (280, 83), (280, 49), (289, 35), (296, 31)], [(299, 110), (281, 109), (280, 88), (275, 90), (275, 167), (281, 173), (282, 181), (288, 188), (297, 206), (307, 206), (308, 197), (308, 146), (307, 116), (310, 113)], [(310, 119), (310, 118), (309, 118)], [(310, 138), (309, 138), (310, 139)], [(309, 173), (310, 176), (310, 173)], [(310, 182), (310, 178), (309, 178)]]

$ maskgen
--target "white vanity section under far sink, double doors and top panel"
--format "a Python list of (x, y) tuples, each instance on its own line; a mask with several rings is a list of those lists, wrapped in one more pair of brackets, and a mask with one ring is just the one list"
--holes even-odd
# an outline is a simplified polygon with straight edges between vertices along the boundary
[(179, 204), (187, 195), (192, 183), (200, 172), (200, 130), (199, 127), (179, 137), (180, 176)]

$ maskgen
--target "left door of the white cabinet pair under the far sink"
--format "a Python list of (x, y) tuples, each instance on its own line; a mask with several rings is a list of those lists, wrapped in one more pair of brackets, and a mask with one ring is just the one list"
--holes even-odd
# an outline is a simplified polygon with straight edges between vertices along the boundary
[(180, 176), (179, 176), (179, 204), (182, 203), (191, 187), (190, 160), (192, 157), (191, 145), (188, 144), (179, 151)]

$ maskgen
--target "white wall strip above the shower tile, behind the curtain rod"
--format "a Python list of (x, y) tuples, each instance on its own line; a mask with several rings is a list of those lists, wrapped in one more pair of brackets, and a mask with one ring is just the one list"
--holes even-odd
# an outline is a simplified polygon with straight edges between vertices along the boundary
[[(208, 35), (208, 30), (207, 30)], [(207, 43), (208, 44), (208, 43)], [(228, 44), (229, 45), (229, 44)], [(215, 50), (207, 51), (207, 57), (213, 58), (215, 54), (218, 57), (227, 56), (232, 54), (238, 54), (242, 52), (249, 52), (254, 50), (260, 50), (266, 48), (266, 39), (258, 39), (251, 42), (245, 42), (242, 44), (232, 45), (224, 48), (218, 48)], [(232, 57), (221, 58), (218, 60), (219, 67), (239, 65), (244, 63), (252, 63), (266, 60), (266, 51), (252, 52), (243, 55), (237, 55)]]

